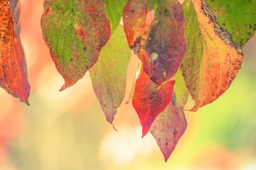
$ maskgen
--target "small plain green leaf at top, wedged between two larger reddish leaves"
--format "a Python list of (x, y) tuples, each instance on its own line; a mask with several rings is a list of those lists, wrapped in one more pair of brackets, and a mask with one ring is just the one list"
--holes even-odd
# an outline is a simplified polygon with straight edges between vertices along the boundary
[(127, 0), (103, 0), (106, 13), (110, 20), (111, 32), (115, 31), (123, 15), (123, 9)]

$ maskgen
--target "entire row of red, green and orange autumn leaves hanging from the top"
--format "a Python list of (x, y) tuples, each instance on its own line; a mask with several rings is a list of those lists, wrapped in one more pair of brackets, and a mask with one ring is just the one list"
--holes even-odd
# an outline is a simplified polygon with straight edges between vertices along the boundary
[[(0, 0), (0, 7), (0, 86), (28, 104), (20, 1)], [(65, 80), (60, 90), (89, 71), (110, 124), (125, 96), (131, 50), (138, 55), (132, 105), (142, 137), (150, 131), (168, 160), (186, 130), (189, 94), (196, 111), (236, 77), (241, 48), (256, 30), (255, 11), (255, 0), (45, 0), (41, 25)]]

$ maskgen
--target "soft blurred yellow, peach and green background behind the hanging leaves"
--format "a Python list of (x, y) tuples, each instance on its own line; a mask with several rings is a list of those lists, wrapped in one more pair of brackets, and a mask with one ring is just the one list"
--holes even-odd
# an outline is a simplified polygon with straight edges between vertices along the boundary
[[(0, 169), (256, 169), (256, 36), (244, 46), (242, 69), (227, 92), (196, 113), (186, 112), (188, 128), (165, 163), (154, 138), (148, 133), (141, 139), (131, 103), (118, 108), (118, 132), (113, 130), (88, 73), (58, 91), (64, 81), (40, 29), (43, 0), (21, 2), (31, 106), (0, 89)], [(137, 63), (132, 55), (128, 89)], [(189, 100), (186, 108), (191, 106)]]

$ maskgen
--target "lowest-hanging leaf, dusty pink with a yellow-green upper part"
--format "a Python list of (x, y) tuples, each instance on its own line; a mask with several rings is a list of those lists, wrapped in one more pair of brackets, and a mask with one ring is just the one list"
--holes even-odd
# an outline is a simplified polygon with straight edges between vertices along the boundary
[(157, 116), (150, 129), (165, 161), (172, 154), (187, 127), (183, 108), (188, 99), (188, 89), (180, 69), (175, 74), (175, 81), (172, 102)]

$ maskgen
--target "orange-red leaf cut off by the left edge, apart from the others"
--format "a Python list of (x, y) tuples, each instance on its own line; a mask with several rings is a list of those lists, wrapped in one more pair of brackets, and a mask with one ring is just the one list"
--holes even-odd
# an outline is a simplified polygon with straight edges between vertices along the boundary
[(13, 21), (8, 1), (0, 1), (0, 87), (29, 105), (30, 85), (26, 57), (19, 39), (20, 6), (19, 3), (16, 4), (18, 6), (12, 6), (13, 16), (15, 16)]

